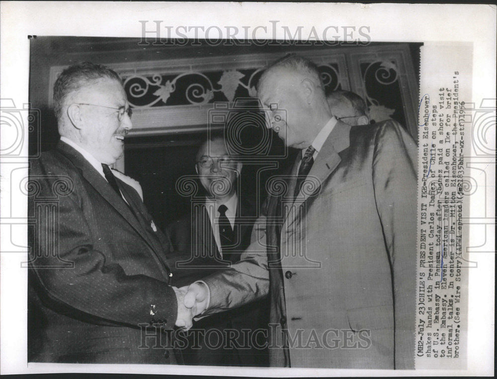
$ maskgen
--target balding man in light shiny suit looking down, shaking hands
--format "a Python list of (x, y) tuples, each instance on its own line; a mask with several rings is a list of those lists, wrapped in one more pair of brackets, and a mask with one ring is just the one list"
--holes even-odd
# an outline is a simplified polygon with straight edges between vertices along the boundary
[(392, 120), (337, 120), (298, 56), (269, 67), (257, 96), (301, 154), (273, 178), (286, 185), (270, 191), (242, 260), (191, 284), (185, 305), (208, 315), (269, 293), (271, 366), (414, 368), (412, 137)]

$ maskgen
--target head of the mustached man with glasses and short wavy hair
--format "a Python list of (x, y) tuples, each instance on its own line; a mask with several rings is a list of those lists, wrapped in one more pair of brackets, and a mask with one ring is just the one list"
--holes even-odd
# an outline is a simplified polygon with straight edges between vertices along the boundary
[(131, 109), (116, 72), (83, 62), (65, 69), (54, 84), (54, 112), (61, 136), (98, 161), (113, 164), (133, 127)]

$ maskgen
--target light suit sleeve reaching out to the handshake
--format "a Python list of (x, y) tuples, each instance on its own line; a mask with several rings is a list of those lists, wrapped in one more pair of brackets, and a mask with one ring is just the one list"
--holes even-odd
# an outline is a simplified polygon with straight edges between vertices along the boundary
[(265, 212), (255, 221), (251, 243), (242, 253), (241, 260), (229, 269), (204, 278), (203, 282), (210, 291), (209, 309), (203, 315), (236, 308), (267, 295), (269, 272)]

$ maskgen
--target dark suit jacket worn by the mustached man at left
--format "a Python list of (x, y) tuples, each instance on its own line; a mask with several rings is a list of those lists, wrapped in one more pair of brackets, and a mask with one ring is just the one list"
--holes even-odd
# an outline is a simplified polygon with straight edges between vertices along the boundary
[(62, 141), (31, 161), (28, 362), (176, 362), (170, 244), (117, 182), (130, 207)]

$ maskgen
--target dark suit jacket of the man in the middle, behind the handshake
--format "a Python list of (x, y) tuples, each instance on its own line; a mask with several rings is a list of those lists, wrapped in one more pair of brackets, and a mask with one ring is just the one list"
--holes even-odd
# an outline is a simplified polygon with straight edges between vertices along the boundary
[[(234, 226), (237, 241), (234, 244), (236, 246), (231, 249), (232, 262), (238, 262), (241, 253), (250, 244), (252, 226), (256, 218), (254, 205), (241, 200), (240, 197)], [(230, 265), (230, 262), (226, 261), (227, 255), (223, 255), (223, 262), (215, 258), (216, 256), (220, 257), (219, 251), (207, 209), (202, 203), (193, 205), (191, 214), (168, 225), (167, 234), (175, 251), (190, 252), (190, 254), (175, 254), (174, 256), (176, 280), (181, 283), (193, 283)], [(242, 329), (249, 329), (255, 335), (254, 331), (257, 329), (267, 329), (267, 322), (268, 301), (261, 299), (238, 309), (200, 319), (194, 323), (193, 328), (203, 329), (203, 332), (218, 329), (224, 333), (224, 336), (227, 335), (228, 329), (235, 329), (239, 332)], [(193, 344), (194, 341), (192, 333), (190, 332), (190, 344)], [(261, 348), (266, 341), (264, 334), (260, 332), (255, 335), (254, 341), (256, 342), (247, 343), (244, 338), (246, 337), (241, 333), (240, 337), (236, 339), (239, 345), (250, 346), (253, 344), (259, 348), (250, 346), (248, 349), (235, 349), (220, 346), (218, 349), (213, 349), (216, 342), (211, 343), (209, 347), (206, 346), (202, 338), (197, 338), (200, 349), (183, 350), (184, 361), (191, 365), (267, 366), (267, 349)]]

